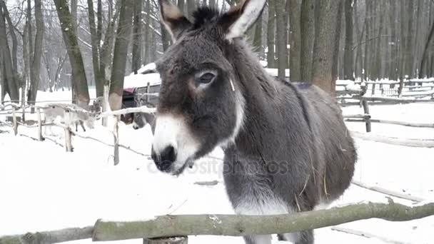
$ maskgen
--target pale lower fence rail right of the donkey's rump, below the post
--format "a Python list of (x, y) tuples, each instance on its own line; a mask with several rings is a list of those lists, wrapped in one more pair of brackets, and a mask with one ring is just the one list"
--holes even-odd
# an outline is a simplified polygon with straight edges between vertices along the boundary
[(411, 146), (416, 148), (434, 148), (434, 140), (429, 140), (429, 139), (404, 139), (404, 138), (365, 134), (357, 131), (351, 131), (351, 135), (354, 138), (360, 138), (365, 141), (376, 141), (379, 143), (387, 143), (387, 144), (398, 145), (398, 146)]

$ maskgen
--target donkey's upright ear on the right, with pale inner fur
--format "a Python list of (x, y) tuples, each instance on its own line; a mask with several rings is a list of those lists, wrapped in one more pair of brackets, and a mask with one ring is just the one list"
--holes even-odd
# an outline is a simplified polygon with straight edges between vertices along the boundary
[(234, 39), (246, 34), (261, 16), (266, 0), (245, 0), (222, 16), (221, 24), (226, 29), (226, 39)]

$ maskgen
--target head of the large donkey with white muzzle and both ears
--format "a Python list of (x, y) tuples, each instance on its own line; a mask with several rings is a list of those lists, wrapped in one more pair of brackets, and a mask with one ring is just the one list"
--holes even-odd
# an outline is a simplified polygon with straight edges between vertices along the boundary
[(156, 62), (161, 89), (152, 158), (159, 170), (177, 175), (235, 140), (244, 98), (233, 70), (233, 39), (255, 23), (266, 0), (246, 0), (224, 14), (202, 7), (193, 22), (169, 0), (159, 3), (173, 45)]

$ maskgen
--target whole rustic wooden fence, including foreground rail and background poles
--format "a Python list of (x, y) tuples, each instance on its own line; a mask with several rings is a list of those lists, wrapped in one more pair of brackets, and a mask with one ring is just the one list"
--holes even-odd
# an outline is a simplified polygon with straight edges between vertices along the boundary
[[(344, 116), (346, 120), (358, 120), (366, 123), (366, 128), (370, 130), (370, 123), (390, 123), (402, 126), (428, 127), (434, 128), (434, 124), (426, 123), (404, 123), (400, 121), (381, 121), (370, 118), (368, 100), (363, 100), (362, 103), (364, 114), (355, 114)], [(365, 104), (365, 105), (363, 105)], [(10, 108), (9, 108), (10, 107)], [(0, 108), (6, 109), (6, 112), (11, 114), (11, 124), (14, 128), (14, 133), (18, 134), (19, 126), (37, 128), (36, 140), (42, 141), (41, 128), (43, 126), (59, 126), (65, 131), (65, 148), (66, 151), (72, 151), (71, 136), (74, 133), (71, 131), (68, 124), (61, 123), (44, 123), (41, 120), (44, 106), (34, 106), (36, 110), (36, 123), (28, 124), (25, 121), (19, 121), (19, 110), (25, 110), (27, 107), (20, 107), (14, 103)], [(64, 108), (64, 106), (61, 106)], [(117, 120), (118, 116), (126, 113), (153, 113), (155, 108), (142, 106), (139, 108), (126, 108), (118, 111), (110, 111), (103, 113), (89, 113), (96, 118), (107, 118), (113, 116)], [(22, 111), (21, 111), (22, 112)], [(66, 112), (66, 111), (65, 111)], [(77, 113), (79, 111), (73, 108), (66, 113)], [(80, 111), (83, 112), (83, 111)], [(119, 162), (118, 148), (122, 147), (118, 141), (118, 121), (115, 121), (113, 128), (113, 146), (115, 164)], [(422, 146), (434, 147), (433, 140), (425, 141), (403, 141), (398, 138), (392, 140), (390, 138), (372, 138), (363, 133), (354, 133), (352, 135), (366, 140), (381, 141), (384, 143), (393, 143), (404, 146)], [(76, 136), (79, 136), (76, 134)], [(84, 137), (86, 138), (86, 137)], [(87, 138), (94, 139), (95, 138)], [(98, 141), (98, 140), (96, 140)], [(99, 141), (104, 143), (102, 141)], [(142, 154), (144, 156), (144, 154)], [(412, 200), (415, 203), (423, 201), (422, 198), (406, 195), (403, 193), (395, 193), (391, 190), (382, 190), (363, 185), (363, 183), (353, 182), (369, 190), (375, 190), (380, 193), (392, 195), (393, 197)], [(355, 220), (367, 218), (383, 218), (392, 221), (405, 221), (417, 218), (424, 218), (429, 215), (434, 215), (434, 203), (425, 205), (400, 205), (393, 203), (390, 200), (388, 204), (384, 203), (359, 203), (344, 207), (337, 207), (328, 210), (316, 210), (291, 215), (163, 215), (152, 220), (143, 221), (107, 221), (98, 220), (95, 225), (84, 228), (69, 228), (64, 230), (53, 230), (37, 233), (26, 233), (23, 235), (8, 235), (0, 237), (0, 244), (51, 244), (60, 243), (71, 240), (81, 240), (91, 238), (94, 241), (104, 240), (127, 240), (133, 238), (143, 238), (143, 243), (188, 243), (188, 235), (248, 235), (248, 234), (274, 234), (274, 233), (291, 233), (300, 230), (308, 230), (314, 228), (322, 228), (325, 226), (338, 225), (340, 223), (348, 223)], [(345, 231), (342, 228), (339, 231)], [(349, 231), (349, 230), (346, 230)]]

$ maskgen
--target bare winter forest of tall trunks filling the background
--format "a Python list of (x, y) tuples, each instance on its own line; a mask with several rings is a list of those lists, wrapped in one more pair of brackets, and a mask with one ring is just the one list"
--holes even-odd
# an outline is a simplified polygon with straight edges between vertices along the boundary
[[(38, 91), (71, 91), (89, 103), (109, 87), (120, 106), (123, 77), (171, 45), (156, 0), (1, 0), (1, 101), (32, 104)], [(206, 4), (178, 0), (191, 16)], [(403, 81), (434, 76), (433, 0), (271, 0), (246, 36), (278, 77), (334, 92), (337, 79)], [(116, 99), (117, 97), (117, 99)], [(7, 101), (8, 99), (6, 99)]]

